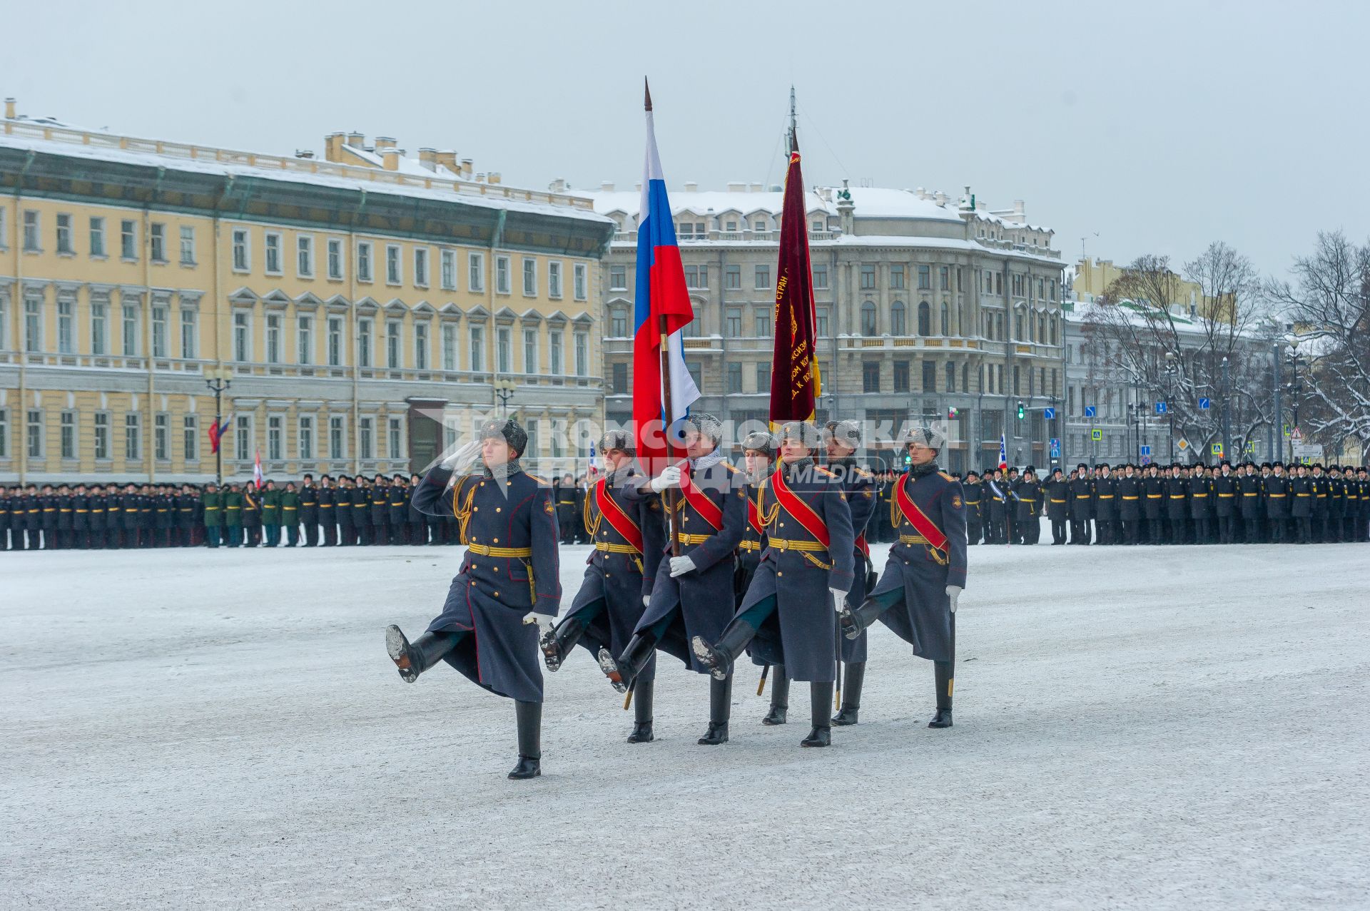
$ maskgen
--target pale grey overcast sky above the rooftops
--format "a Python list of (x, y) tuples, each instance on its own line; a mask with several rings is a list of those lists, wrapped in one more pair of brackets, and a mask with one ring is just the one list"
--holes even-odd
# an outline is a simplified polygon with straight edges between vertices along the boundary
[(0, 93), (30, 115), (290, 153), (333, 130), (456, 148), (545, 186), (970, 184), (1069, 259), (1211, 240), (1282, 273), (1370, 237), (1370, 4), (11, 3)]

